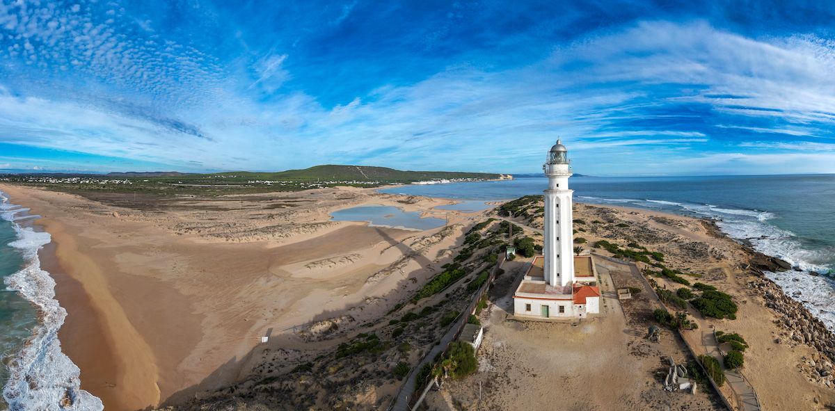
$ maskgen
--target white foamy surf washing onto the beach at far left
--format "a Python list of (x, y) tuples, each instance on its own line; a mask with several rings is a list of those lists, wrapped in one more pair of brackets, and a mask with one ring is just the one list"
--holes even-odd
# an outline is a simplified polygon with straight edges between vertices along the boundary
[(12, 221), (18, 234), (18, 240), (9, 246), (18, 249), (26, 261), (22, 270), (6, 277), (6, 286), (32, 302), (40, 314), (39, 327), (9, 363), (10, 377), (3, 398), (13, 411), (102, 410), (101, 400), (80, 388), (80, 370), (61, 352), (58, 329), (67, 312), (58, 305), (55, 281), (41, 269), (38, 258), (38, 250), (51, 238), (46, 232), (15, 223), (29, 218), (17, 216), (24, 211), (28, 209), (9, 204), (8, 197), (0, 192), (0, 217)]

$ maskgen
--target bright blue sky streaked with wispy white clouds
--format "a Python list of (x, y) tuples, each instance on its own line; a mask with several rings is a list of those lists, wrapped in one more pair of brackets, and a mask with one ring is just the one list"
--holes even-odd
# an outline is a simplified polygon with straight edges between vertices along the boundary
[(0, 169), (835, 173), (825, 2), (0, 2)]

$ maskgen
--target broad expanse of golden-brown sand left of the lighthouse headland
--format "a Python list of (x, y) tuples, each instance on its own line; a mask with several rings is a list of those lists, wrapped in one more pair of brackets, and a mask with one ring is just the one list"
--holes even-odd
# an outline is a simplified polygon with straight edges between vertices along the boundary
[(263, 336), (277, 341), (350, 307), (360, 307), (346, 314), (351, 322), (377, 318), (392, 293), (414, 287), (404, 276), (428, 275), (423, 267), (448, 256), (461, 234), (454, 212), (451, 227), (420, 233), (329, 221), (330, 211), (368, 201), (408, 211), (448, 203), (398, 203), (372, 190), (184, 197), (150, 207), (3, 190), (53, 234), (57, 298), (68, 311), (59, 337), (82, 370), (82, 388), (108, 409), (176, 403), (234, 383)]

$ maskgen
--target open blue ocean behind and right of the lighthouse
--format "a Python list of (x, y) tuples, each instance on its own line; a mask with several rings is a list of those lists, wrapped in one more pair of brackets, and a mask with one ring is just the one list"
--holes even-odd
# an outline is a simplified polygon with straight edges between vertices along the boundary
[[(402, 185), (387, 193), (458, 200), (542, 194), (547, 179)], [(667, 211), (716, 221), (726, 235), (802, 271), (768, 273), (835, 330), (835, 175), (572, 177), (574, 200)], [(810, 273), (818, 273), (812, 276)], [(796, 292), (800, 292), (797, 294)]]

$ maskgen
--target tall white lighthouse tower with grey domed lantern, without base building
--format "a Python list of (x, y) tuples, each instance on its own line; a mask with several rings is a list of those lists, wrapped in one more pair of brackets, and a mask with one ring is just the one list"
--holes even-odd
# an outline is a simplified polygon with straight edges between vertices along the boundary
[(569, 190), (568, 150), (560, 140), (551, 147), (542, 168), (548, 177), (548, 189), (544, 191), (544, 280), (551, 287), (565, 287), (574, 283), (574, 190)]

